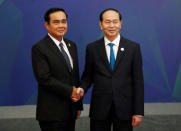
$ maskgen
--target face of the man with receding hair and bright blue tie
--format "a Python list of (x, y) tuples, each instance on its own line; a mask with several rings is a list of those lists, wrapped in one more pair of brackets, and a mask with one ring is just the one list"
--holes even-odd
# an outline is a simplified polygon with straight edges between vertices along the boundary
[(109, 10), (104, 12), (103, 20), (99, 22), (101, 29), (104, 31), (105, 36), (113, 41), (119, 34), (122, 21), (119, 19), (119, 14), (115, 11)]

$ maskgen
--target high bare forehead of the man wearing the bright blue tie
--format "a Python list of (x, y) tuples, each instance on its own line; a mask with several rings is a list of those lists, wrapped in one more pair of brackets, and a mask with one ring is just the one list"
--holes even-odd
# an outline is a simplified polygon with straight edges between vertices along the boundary
[(119, 19), (119, 13), (113, 10), (108, 10), (102, 15), (103, 20)]

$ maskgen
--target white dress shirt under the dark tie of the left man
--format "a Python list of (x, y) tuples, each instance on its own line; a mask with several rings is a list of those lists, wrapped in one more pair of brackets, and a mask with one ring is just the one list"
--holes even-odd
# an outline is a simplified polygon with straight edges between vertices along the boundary
[(53, 36), (51, 36), (49, 33), (48, 33), (48, 35), (49, 35), (50, 38), (54, 41), (54, 43), (56, 44), (56, 46), (59, 48), (60, 51), (61, 51), (61, 48), (60, 48), (59, 44), (60, 44), (60, 43), (63, 44), (63, 48), (64, 48), (65, 52), (67, 53), (67, 55), (68, 55), (68, 57), (69, 57), (71, 67), (72, 67), (72, 69), (73, 69), (73, 60), (72, 60), (72, 57), (71, 57), (71, 55), (70, 55), (70, 53), (69, 53), (69, 50), (68, 50), (67, 45), (65, 44), (65, 41), (63, 40), (63, 38), (62, 38), (62, 41), (60, 42), (60, 41), (58, 41), (57, 39), (55, 39)]

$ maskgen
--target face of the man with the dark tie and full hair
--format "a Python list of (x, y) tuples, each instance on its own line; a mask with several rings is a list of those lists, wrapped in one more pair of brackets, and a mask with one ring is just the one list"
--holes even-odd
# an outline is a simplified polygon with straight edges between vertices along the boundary
[(50, 14), (49, 24), (45, 22), (48, 33), (57, 40), (61, 40), (67, 32), (67, 17), (64, 12), (57, 11)]

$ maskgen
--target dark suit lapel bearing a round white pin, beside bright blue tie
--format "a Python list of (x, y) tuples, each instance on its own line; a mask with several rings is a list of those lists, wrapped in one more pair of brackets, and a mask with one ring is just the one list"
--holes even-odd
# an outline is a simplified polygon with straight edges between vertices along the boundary
[(117, 66), (119, 65), (119, 63), (121, 62), (121, 59), (123, 58), (125, 51), (126, 51), (126, 45), (124, 42), (124, 38), (121, 37), (120, 42), (119, 42), (119, 47), (118, 47), (118, 53), (117, 53), (117, 57), (116, 57), (116, 61), (115, 61), (115, 65), (114, 65), (114, 71), (117, 69)]

